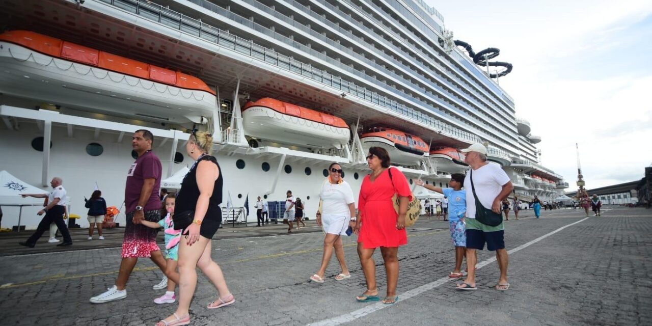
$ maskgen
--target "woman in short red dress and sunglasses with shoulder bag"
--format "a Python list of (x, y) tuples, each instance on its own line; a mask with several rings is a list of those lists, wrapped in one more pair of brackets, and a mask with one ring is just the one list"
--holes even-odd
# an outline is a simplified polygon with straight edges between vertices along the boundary
[[(371, 147), (367, 164), (372, 173), (364, 177), (358, 200), (358, 217), (355, 233), (358, 234), (358, 256), (366, 279), (367, 289), (357, 301), (378, 301), (376, 288), (376, 263), (372, 258), (380, 247), (387, 272), (385, 304), (398, 301), (398, 246), (408, 243), (406, 212), (411, 197), (408, 180), (401, 171), (389, 168), (389, 154), (381, 147)], [(399, 214), (394, 210), (392, 197), (399, 198)]]

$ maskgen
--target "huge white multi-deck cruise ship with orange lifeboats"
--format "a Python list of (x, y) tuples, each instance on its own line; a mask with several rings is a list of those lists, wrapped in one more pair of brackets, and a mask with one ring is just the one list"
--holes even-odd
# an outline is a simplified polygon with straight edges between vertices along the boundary
[[(419, 198), (431, 194), (412, 180), (447, 186), (474, 142), (523, 201), (568, 187), (497, 83), (512, 65), (454, 39), (422, 0), (3, 0), (0, 18), (0, 170), (41, 188), (62, 177), (70, 213), (96, 187), (121, 206), (140, 128), (163, 188), (192, 164), (188, 130), (213, 132), (222, 205), (248, 199), (248, 216), (228, 213), (240, 220), (287, 190), (314, 216), (330, 162), (357, 193), (370, 146)], [(19, 224), (12, 209), (4, 226)]]

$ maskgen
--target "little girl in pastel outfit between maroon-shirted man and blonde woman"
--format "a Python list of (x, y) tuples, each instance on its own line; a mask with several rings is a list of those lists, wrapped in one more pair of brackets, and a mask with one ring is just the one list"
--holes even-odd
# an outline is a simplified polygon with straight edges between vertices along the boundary
[(165, 274), (168, 276), (168, 291), (162, 297), (154, 299), (157, 304), (174, 303), (177, 299), (174, 294), (174, 289), (177, 286), (172, 279), (179, 280), (179, 273), (177, 272), (177, 261), (179, 260), (179, 240), (181, 240), (181, 230), (174, 230), (174, 222), (172, 216), (174, 215), (174, 203), (177, 200), (175, 194), (168, 194), (165, 198), (165, 209), (168, 215), (158, 222), (150, 222), (142, 220), (141, 223), (148, 228), (165, 230), (165, 248), (166, 248), (166, 266)]

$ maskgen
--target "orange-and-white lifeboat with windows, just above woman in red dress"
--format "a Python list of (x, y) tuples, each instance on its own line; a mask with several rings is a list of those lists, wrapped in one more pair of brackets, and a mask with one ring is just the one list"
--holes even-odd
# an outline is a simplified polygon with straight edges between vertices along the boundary
[(371, 128), (362, 136), (365, 151), (369, 147), (383, 147), (389, 153), (391, 162), (400, 165), (413, 166), (428, 157), (428, 144), (421, 138), (405, 132), (389, 128)]

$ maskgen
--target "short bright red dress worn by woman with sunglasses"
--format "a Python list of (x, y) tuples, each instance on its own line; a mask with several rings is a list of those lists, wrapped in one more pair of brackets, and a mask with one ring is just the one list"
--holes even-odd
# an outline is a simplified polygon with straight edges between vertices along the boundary
[[(358, 242), (364, 248), (378, 248), (379, 246), (395, 247), (408, 243), (406, 230), (396, 230), (396, 218), (392, 196), (411, 197), (408, 180), (401, 171), (392, 169), (392, 179), (389, 178), (389, 169), (380, 173), (373, 182), (370, 175), (364, 177), (358, 198), (358, 210), (361, 212), (362, 222)], [(394, 185), (392, 185), (392, 181)]]

